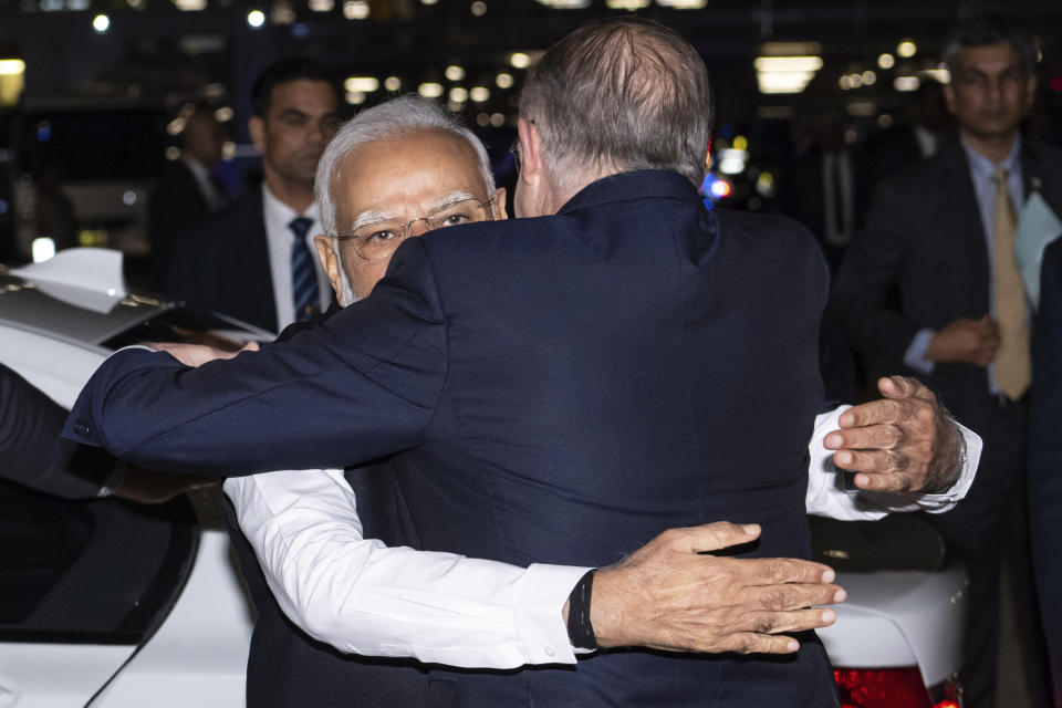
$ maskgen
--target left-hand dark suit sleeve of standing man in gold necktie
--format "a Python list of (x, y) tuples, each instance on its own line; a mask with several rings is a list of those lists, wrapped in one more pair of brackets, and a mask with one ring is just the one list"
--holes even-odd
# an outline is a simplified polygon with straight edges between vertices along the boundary
[(892, 366), (903, 365), (904, 352), (920, 329), (887, 302), (904, 266), (910, 218), (902, 190), (894, 181), (884, 183), (831, 298), (831, 316), (855, 348), (874, 352)]

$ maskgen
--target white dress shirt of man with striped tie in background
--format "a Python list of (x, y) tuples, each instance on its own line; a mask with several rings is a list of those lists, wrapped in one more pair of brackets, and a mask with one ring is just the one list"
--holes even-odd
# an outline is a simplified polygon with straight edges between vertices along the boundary
[(317, 206), (311, 205), (304, 212), (299, 214), (283, 201), (273, 196), (264, 184), (262, 185), (262, 216), (266, 219), (266, 243), (269, 248), (269, 272), (273, 278), (273, 300), (277, 302), (277, 331), (295, 321), (295, 301), (291, 291), (291, 242), (294, 238), (288, 225), (295, 217), (306, 217), (313, 223), (306, 231), (306, 244), (314, 254), (313, 267), (317, 272), (317, 300), (321, 312), (332, 303), (332, 284), (321, 268), (316, 258), (316, 248), (313, 237), (321, 233), (321, 220), (317, 217)]

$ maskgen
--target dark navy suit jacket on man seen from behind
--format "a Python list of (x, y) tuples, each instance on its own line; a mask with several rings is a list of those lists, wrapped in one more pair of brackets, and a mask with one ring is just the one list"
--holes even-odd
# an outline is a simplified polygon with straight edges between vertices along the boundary
[[(391, 455), (424, 548), (521, 565), (614, 563), (720, 519), (763, 524), (749, 555), (805, 556), (826, 281), (795, 222), (617, 175), (556, 216), (409, 239), (372, 296), (262, 353), (116, 355), (67, 434), (214, 475)], [(433, 678), (444, 705), (837, 705), (813, 641)]]

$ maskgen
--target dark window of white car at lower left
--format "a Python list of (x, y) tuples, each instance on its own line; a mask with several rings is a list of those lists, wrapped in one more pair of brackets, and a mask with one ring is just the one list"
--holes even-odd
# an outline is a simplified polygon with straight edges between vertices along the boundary
[(139, 644), (195, 558), (186, 499), (67, 501), (0, 482), (0, 642)]

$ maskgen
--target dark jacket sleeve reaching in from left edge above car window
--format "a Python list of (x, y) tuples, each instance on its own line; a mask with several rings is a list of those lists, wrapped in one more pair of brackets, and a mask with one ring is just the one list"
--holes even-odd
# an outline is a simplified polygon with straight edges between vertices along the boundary
[(0, 366), (0, 477), (65, 499), (96, 497), (115, 460), (60, 438), (65, 418), (60, 405)]

